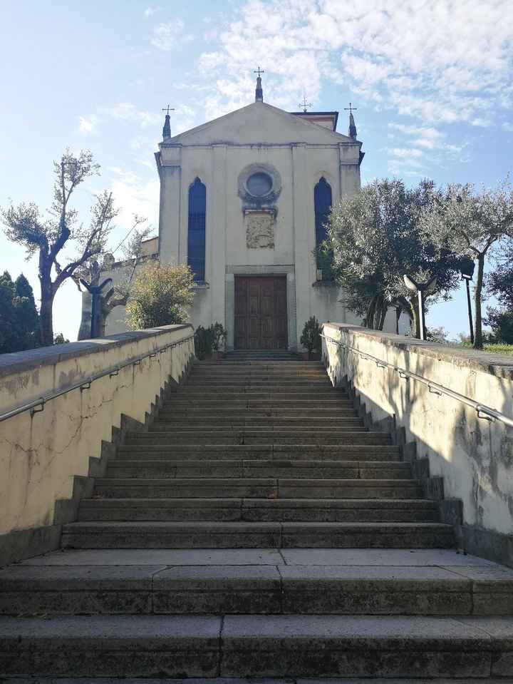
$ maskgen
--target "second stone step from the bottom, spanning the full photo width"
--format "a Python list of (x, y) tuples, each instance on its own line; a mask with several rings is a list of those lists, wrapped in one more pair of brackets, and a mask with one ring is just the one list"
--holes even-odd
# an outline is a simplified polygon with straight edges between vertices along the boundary
[(504, 568), (11, 566), (0, 615), (508, 616)]

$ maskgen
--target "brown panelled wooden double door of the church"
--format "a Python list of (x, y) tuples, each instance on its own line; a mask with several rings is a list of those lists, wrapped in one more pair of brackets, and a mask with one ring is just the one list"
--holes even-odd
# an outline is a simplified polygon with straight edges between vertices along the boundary
[(235, 349), (286, 349), (286, 277), (235, 277)]

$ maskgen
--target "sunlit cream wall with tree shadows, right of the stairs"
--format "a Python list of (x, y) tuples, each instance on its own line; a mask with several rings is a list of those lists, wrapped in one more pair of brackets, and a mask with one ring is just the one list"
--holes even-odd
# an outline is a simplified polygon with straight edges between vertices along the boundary
[[(361, 357), (355, 349), (406, 369), (513, 418), (513, 359), (502, 354), (453, 349), (375, 330), (323, 325), (323, 359), (333, 384), (346, 384), (373, 422), (393, 427), (395, 439), (413, 442), (417, 472), (427, 474), (427, 496), (455, 501), (441, 506), (457, 524), (469, 553), (513, 566), (513, 429), (478, 417), (457, 399)], [(352, 347), (353, 349), (348, 349)], [(388, 420), (387, 420), (388, 419)], [(391, 423), (391, 426), (390, 426)], [(429, 464), (423, 469), (422, 464)], [(443, 486), (442, 481), (443, 479)], [(462, 504), (462, 505), (461, 505)]]

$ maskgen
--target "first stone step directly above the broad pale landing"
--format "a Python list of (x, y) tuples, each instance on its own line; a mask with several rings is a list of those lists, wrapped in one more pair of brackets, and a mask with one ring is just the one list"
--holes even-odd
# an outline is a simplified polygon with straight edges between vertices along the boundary
[(78, 522), (63, 548), (452, 548), (440, 523)]

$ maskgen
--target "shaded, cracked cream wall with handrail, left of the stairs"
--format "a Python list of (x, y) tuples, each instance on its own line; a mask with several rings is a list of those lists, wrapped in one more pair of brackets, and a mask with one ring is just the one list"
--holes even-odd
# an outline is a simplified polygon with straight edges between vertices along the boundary
[(0, 565), (58, 547), (123, 432), (145, 429), (166, 387), (182, 379), (191, 336), (191, 325), (168, 325), (0, 356), (0, 414), (112, 370), (0, 422)]

